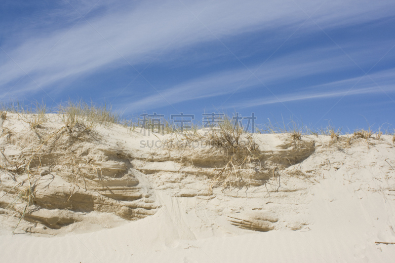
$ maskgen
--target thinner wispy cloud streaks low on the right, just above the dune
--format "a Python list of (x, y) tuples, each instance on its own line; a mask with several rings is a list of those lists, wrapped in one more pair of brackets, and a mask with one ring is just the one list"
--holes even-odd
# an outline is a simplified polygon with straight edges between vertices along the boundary
[[(363, 54), (365, 50), (362, 49), (359, 52)], [(358, 56), (356, 53), (351, 54)], [(373, 66), (375, 62), (377, 62), (377, 58), (371, 60), (370, 65)], [(161, 90), (160, 94), (154, 93), (133, 100), (133, 103), (128, 107), (131, 110), (158, 109), (168, 106), (169, 103), (176, 105), (186, 101), (223, 95), (222, 103), (234, 92), (236, 92), (235, 97), (237, 97), (237, 94), (245, 92), (245, 90), (248, 90), (252, 98), (242, 102), (228, 102), (224, 105), (218, 103), (215, 107), (246, 108), (307, 99), (342, 97), (345, 94), (347, 96), (376, 94), (383, 92), (380, 87), (392, 93), (395, 91), (395, 88), (393, 88), (393, 83), (395, 83), (394, 70), (395, 68), (363, 76), (363, 72), (344, 53), (338, 52), (338, 48), (317, 48), (280, 56), (263, 65), (254, 65), (250, 69), (222, 71), (189, 79)], [(347, 71), (352, 71), (356, 76), (341, 75)], [(333, 81), (321, 76), (329, 72), (333, 75), (339, 75), (339, 80)], [(315, 84), (302, 87), (295, 85), (298, 79), (312, 77), (316, 78)], [(353, 86), (355, 88), (347, 92)], [(267, 97), (255, 98), (254, 94), (258, 89), (269, 89), (276, 97), (268, 92), (270, 95)]]

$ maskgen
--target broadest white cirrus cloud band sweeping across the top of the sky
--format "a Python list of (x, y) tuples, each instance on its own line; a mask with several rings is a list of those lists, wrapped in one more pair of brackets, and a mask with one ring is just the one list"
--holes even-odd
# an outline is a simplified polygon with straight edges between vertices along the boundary
[[(94, 2), (89, 3), (93, 5)], [(171, 57), (172, 54), (197, 44), (217, 41), (216, 37), (226, 39), (262, 30), (284, 29), (292, 32), (307, 19), (306, 14), (292, 0), (210, 2), (186, 1), (183, 4), (180, 1), (155, 1), (134, 2), (125, 6), (118, 1), (107, 4), (102, 2), (99, 7), (104, 11), (97, 11), (96, 14), (93, 10), (87, 17), (89, 23), (82, 19), (70, 32), (73, 23), (69, 21), (69, 27), (51, 28), (50, 32), (35, 28), (31, 30), (37, 31), (36, 34), (27, 34), (22, 29), (20, 34), (25, 35), (25, 39), (4, 36), (4, 50), (12, 60), (1, 55), (1, 91), (6, 92), (25, 75), (19, 66), (25, 72), (30, 71), (35, 81), (45, 88), (59, 81), (75, 80), (106, 68), (126, 67), (128, 63), (147, 65), (175, 38), (177, 39), (164, 51), (164, 56)], [(73, 1), (71, 3), (76, 4)], [(321, 4), (310, 1), (296, 3), (309, 15)], [(75, 10), (66, 8), (67, 2), (64, 4), (67, 9), (64, 16), (71, 16)], [(112, 5), (118, 8), (111, 8)], [(343, 8), (339, 8), (339, 5)], [(317, 11), (316, 21), (328, 29), (339, 25), (366, 23), (391, 15), (391, 6), (391, 1), (369, 2), (364, 5), (358, 4), (358, 1), (347, 4), (328, 1)], [(89, 7), (77, 6), (76, 9), (84, 15)], [(200, 12), (198, 19), (203, 24), (195, 19)], [(78, 17), (79, 15), (73, 16), (71, 20), (78, 21)], [(306, 26), (305, 34), (319, 31), (313, 24)], [(216, 55), (216, 52), (212, 53), (212, 57)], [(165, 61), (161, 60), (162, 63)], [(29, 81), (23, 88), (39, 90)]]

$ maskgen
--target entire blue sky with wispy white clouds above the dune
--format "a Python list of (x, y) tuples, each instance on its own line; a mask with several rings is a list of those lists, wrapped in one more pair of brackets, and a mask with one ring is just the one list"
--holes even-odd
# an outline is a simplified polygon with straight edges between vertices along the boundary
[(392, 0), (2, 0), (0, 99), (395, 124)]

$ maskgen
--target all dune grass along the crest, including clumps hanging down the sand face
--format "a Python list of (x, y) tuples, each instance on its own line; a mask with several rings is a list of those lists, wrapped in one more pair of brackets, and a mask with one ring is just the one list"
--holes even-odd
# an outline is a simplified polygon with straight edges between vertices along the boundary
[[(109, 128), (112, 125), (121, 125), (130, 134), (137, 127), (141, 127), (139, 120), (127, 119), (120, 112), (113, 111), (109, 105), (87, 104), (82, 100), (68, 101), (50, 109), (44, 103), (38, 102), (29, 104), (28, 106), (24, 106), (19, 102), (0, 104), (0, 119), (7, 119), (7, 113), (16, 113), (17, 119), (27, 123), (28, 127), (36, 132), (42, 130), (45, 123), (50, 122), (51, 118), (57, 117), (64, 124), (60, 129), (54, 132), (52, 131), (40, 138), (40, 144), (37, 149), (32, 150), (32, 154), (26, 159), (25, 169), (22, 173), (27, 174), (28, 184), (19, 194), (20, 198), (26, 201), (26, 207), (21, 215), (21, 219), (28, 205), (34, 204), (34, 186), (40, 180), (40, 165), (32, 169), (31, 164), (37, 157), (40, 159), (39, 155), (43, 154), (42, 149), (44, 146), (48, 147), (52, 141), (57, 141), (54, 139), (55, 137), (58, 139), (58, 137), (65, 135), (63, 134), (63, 130), (69, 131), (66, 135), (68, 134), (73, 137), (73, 134), (76, 134), (74, 137), (79, 137), (81, 134), (88, 134), (90, 136), (93, 129), (98, 125), (104, 128)], [(179, 140), (204, 140), (208, 145), (212, 146), (213, 150), (217, 151), (218, 158), (222, 158), (223, 165), (217, 167), (211, 174), (211, 189), (217, 186), (240, 188), (251, 184), (252, 174), (254, 172), (259, 173), (263, 169), (260, 160), (261, 152), (254, 140), (255, 134), (245, 131), (244, 127), (234, 122), (231, 115), (224, 114), (221, 122), (205, 130), (201, 122), (192, 122), (189, 125), (191, 126), (189, 129), (184, 129), (172, 120), (162, 119), (162, 126), (158, 126), (158, 123), (154, 119), (148, 118), (143, 128), (162, 134), (175, 133), (176, 136), (181, 136)], [(156, 130), (157, 128), (159, 130)], [(269, 119), (269, 122), (263, 125), (256, 125), (255, 130), (257, 133), (289, 134), (289, 138), (295, 143), (295, 146), (302, 142), (303, 136), (308, 135), (330, 136), (332, 144), (342, 143), (344, 147), (349, 147), (359, 139), (365, 140), (370, 145), (369, 140), (380, 140), (383, 134), (391, 134), (393, 136), (393, 143), (395, 144), (395, 130), (392, 133), (388, 129), (383, 132), (381, 131), (381, 127), (376, 131), (373, 131), (371, 126), (369, 126), (367, 130), (357, 129), (353, 133), (342, 133), (341, 128), (334, 128), (330, 123), (327, 127), (316, 131), (292, 119), (288, 122), (284, 120), (281, 122), (271, 122)], [(70, 157), (70, 160), (73, 163), (73, 156)], [(6, 168), (0, 166), (0, 169)], [(78, 169), (76, 168), (75, 170), (77, 171)], [(245, 175), (246, 170), (250, 171), (247, 176)], [(273, 174), (275, 174), (275, 170), (273, 170)], [(78, 173), (76, 172), (76, 184), (78, 180)]]

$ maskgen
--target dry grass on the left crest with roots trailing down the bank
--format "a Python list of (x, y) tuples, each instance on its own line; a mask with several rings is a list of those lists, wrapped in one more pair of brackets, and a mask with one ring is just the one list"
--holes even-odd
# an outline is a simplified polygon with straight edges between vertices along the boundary
[[(78, 140), (85, 140), (88, 137), (92, 137), (91, 132), (96, 125), (110, 127), (113, 124), (121, 124), (120, 114), (113, 112), (111, 107), (107, 107), (106, 105), (97, 106), (93, 103), (88, 105), (83, 101), (69, 101), (49, 110), (44, 103), (35, 102), (25, 106), (19, 102), (10, 102), (1, 105), (0, 109), (1, 119), (6, 119), (7, 113), (15, 113), (17, 120), (27, 123), (32, 131), (37, 135), (40, 134), (37, 138), (37, 147), (31, 150), (31, 153), (27, 156), (24, 163), (18, 165), (24, 167), (22, 170), (11, 171), (6, 167), (0, 167), (6, 169), (7, 172), (27, 175), (27, 184), (18, 190), (18, 200), (14, 200), (13, 202), (16, 204), (20, 201), (19, 199), (26, 202), (23, 212), (20, 215), (20, 220), (24, 218), (28, 206), (35, 204), (35, 187), (40, 181), (40, 168), (42, 166), (41, 157), (45, 155), (46, 151), (58, 147), (58, 144), (65, 142), (65, 140), (71, 140), (71, 143), (67, 143), (66, 145), (73, 145), (73, 140), (75, 141), (76, 137)], [(60, 119), (64, 125), (55, 130), (45, 129), (45, 123), (51, 122), (54, 118)], [(65, 130), (69, 132), (65, 133)], [(2, 132), (4, 131), (2, 130)], [(60, 140), (61, 138), (63, 138), (63, 140)], [(67, 151), (67, 153), (70, 154), (67, 154), (61, 161), (69, 162), (71, 166), (73, 166), (73, 164), (76, 166), (76, 163), (73, 162), (73, 152), (69, 151)], [(77, 171), (78, 169), (75, 167), (75, 170)], [(75, 174), (77, 184), (79, 176), (77, 172)]]

